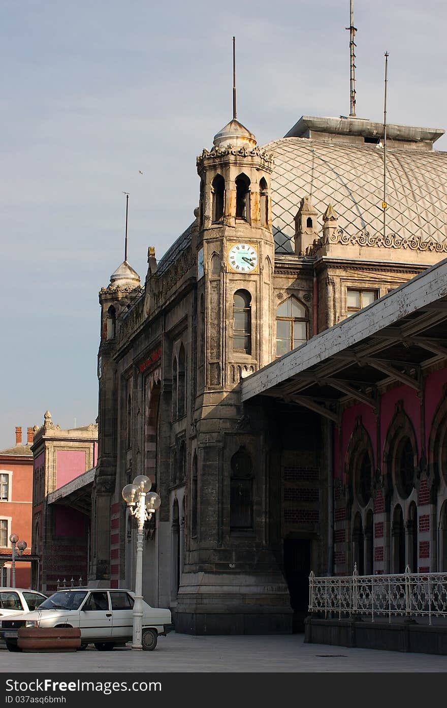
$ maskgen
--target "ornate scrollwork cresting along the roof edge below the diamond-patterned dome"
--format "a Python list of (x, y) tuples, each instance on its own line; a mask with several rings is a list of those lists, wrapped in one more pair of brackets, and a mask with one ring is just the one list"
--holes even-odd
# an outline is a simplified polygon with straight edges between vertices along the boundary
[(315, 256), (323, 246), (328, 244), (341, 244), (342, 246), (369, 246), (379, 249), (410, 249), (410, 251), (435, 251), (436, 253), (447, 253), (447, 243), (440, 244), (434, 239), (423, 241), (420, 236), (411, 236), (405, 239), (397, 234), (369, 234), (360, 232), (349, 235), (343, 229), (337, 229), (328, 237), (320, 236), (313, 244), (306, 249), (306, 256)]

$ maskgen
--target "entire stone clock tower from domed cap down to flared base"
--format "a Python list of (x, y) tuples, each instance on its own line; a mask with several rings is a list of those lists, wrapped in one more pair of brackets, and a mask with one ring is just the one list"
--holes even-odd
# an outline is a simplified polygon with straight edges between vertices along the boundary
[(197, 375), (179, 632), (291, 631), (262, 492), (269, 450), (259, 413), (240, 398), (241, 379), (274, 358), (272, 168), (236, 119), (197, 158)]

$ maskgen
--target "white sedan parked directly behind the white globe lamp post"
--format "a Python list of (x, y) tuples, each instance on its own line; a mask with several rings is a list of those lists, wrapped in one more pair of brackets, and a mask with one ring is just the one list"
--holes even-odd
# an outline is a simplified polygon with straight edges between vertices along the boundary
[[(45, 598), (34, 612), (11, 615), (0, 620), (0, 636), (9, 651), (21, 651), (17, 632), (21, 627), (79, 627), (81, 649), (94, 644), (99, 651), (124, 645), (132, 639), (135, 594), (115, 588), (71, 588)], [(143, 602), (141, 644), (151, 651), (158, 636), (173, 629), (170, 610)]]

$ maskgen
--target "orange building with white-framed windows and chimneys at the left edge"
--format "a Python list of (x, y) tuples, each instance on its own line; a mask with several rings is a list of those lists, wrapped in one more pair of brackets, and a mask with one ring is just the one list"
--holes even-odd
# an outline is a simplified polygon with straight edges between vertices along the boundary
[[(16, 428), (16, 445), (0, 451), (0, 585), (13, 583), (9, 537), (12, 533), (28, 547), (21, 555), (16, 548), (16, 587), (31, 586), (31, 520), (33, 510), (33, 428), (22, 443), (22, 428)], [(23, 558), (29, 561), (23, 561)]]

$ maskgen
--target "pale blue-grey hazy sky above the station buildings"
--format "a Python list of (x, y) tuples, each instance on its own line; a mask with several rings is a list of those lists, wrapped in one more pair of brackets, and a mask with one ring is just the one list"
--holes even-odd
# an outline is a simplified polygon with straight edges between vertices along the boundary
[[(3, 0), (0, 450), (98, 415), (98, 291), (144, 282), (192, 222), (196, 156), (232, 117), (259, 144), (349, 113), (349, 0)], [(447, 127), (445, 0), (354, 0), (356, 114)], [(436, 142), (447, 151), (447, 137)], [(140, 174), (140, 171), (142, 174)]]

